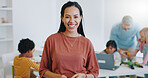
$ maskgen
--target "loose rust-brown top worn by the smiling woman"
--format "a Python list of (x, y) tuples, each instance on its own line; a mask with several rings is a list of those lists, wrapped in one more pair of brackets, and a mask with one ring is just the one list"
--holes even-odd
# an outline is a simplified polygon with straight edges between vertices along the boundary
[(40, 77), (47, 70), (67, 77), (87, 73), (97, 78), (99, 65), (90, 40), (83, 36), (69, 37), (62, 33), (49, 36), (40, 63)]

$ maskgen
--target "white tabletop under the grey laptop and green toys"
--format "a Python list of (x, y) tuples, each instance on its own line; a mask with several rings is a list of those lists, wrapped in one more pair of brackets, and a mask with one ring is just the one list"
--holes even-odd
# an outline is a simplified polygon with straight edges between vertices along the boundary
[(148, 74), (148, 66), (143, 66), (143, 68), (139, 68), (139, 67), (136, 67), (136, 66), (134, 66), (134, 67), (135, 67), (135, 69), (131, 69), (131, 68), (128, 67), (128, 65), (122, 64), (115, 71), (100, 69), (98, 77), (109, 78), (109, 76)]

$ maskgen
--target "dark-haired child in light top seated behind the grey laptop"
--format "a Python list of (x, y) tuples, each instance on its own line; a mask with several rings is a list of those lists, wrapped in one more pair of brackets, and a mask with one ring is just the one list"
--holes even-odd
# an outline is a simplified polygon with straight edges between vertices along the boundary
[[(116, 42), (114, 40), (109, 40), (106, 43), (106, 49), (103, 50), (102, 52), (100, 52), (102, 54), (113, 54), (114, 55), (114, 64), (115, 66), (119, 66), (121, 63), (121, 55), (119, 54), (119, 52), (117, 52), (117, 45)], [(100, 78), (104, 78), (104, 77), (100, 77)], [(118, 78), (117, 76), (111, 76), (109, 78)]]

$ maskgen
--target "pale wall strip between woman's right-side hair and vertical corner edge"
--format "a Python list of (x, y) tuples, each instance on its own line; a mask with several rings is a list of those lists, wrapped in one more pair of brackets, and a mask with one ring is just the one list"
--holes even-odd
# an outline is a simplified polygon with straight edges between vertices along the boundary
[(84, 31), (95, 51), (104, 49), (104, 0), (79, 0), (84, 10)]

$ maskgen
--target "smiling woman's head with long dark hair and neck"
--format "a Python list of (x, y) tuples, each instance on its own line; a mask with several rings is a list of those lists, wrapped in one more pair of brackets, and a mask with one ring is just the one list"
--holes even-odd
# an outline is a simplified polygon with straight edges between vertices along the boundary
[(61, 9), (61, 24), (58, 32), (65, 32), (66, 34), (72, 30), (75, 30), (74, 32), (70, 33), (75, 35), (78, 35), (79, 33), (85, 37), (82, 25), (82, 14), (83, 12), (80, 5), (73, 4), (72, 6), (70, 3), (63, 5)]

